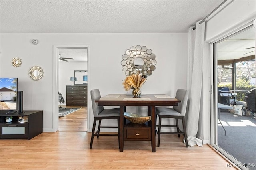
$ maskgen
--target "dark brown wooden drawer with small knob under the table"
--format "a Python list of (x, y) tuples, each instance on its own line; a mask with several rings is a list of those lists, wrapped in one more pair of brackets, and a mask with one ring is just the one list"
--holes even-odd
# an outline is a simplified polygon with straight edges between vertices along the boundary
[(151, 140), (151, 128), (124, 128), (125, 140)]

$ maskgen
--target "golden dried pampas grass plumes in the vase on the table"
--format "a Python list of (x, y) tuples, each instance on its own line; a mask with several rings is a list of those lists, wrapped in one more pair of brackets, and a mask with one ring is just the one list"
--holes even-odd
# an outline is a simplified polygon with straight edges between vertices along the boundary
[(142, 87), (146, 80), (147, 78), (142, 77), (140, 74), (129, 75), (124, 79), (124, 89), (126, 91), (130, 90), (131, 88), (140, 89), (140, 87)]

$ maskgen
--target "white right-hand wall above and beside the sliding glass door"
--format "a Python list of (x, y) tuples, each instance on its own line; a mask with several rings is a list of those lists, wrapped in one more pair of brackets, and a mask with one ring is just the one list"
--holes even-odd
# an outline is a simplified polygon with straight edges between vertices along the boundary
[[(209, 43), (227, 36), (242, 25), (256, 18), (255, 0), (234, 0), (227, 1), (225, 7), (216, 12), (214, 16), (206, 21), (206, 51), (210, 51)], [(199, 128), (197, 136), (210, 142), (210, 53), (204, 57), (204, 76), (203, 76), (203, 103), (200, 113)]]

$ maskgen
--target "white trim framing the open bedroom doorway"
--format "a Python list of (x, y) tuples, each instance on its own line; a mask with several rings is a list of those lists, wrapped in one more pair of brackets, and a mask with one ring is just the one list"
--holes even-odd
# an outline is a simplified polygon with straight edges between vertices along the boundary
[[(89, 45), (53, 45), (53, 102), (52, 102), (52, 129), (53, 132), (58, 131), (59, 128), (59, 117), (58, 117), (58, 87), (59, 87), (59, 49), (60, 48), (87, 48), (87, 70), (88, 70), (88, 91), (90, 91), (90, 49)], [(88, 98), (90, 95), (88, 93)], [(90, 120), (90, 100), (87, 102), (87, 129), (89, 130)]]

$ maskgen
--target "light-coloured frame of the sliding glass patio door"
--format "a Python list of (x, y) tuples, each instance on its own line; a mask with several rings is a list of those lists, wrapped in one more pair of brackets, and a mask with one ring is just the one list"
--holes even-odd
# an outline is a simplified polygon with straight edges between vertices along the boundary
[[(218, 108), (217, 108), (217, 103), (218, 103), (218, 85), (217, 85), (217, 65), (218, 65), (218, 60), (216, 56), (216, 51), (217, 47), (216, 44), (218, 42), (221, 42), (223, 40), (226, 40), (227, 38), (234, 36), (235, 34), (239, 34), (242, 30), (247, 29), (249, 26), (253, 25), (253, 21), (248, 22), (247, 24), (244, 24), (240, 28), (236, 28), (233, 31), (228, 32), (226, 35), (219, 37), (218, 39), (210, 42), (210, 144), (218, 150), (221, 154), (223, 154), (226, 158), (234, 162), (234, 164), (238, 165), (241, 164), (236, 158), (231, 156), (228, 152), (220, 148), (218, 146), (218, 134), (217, 128), (218, 128)], [(254, 26), (254, 29), (255, 26)], [(228, 167), (228, 164), (227, 164)], [(242, 169), (248, 169), (248, 168), (243, 168)]]

